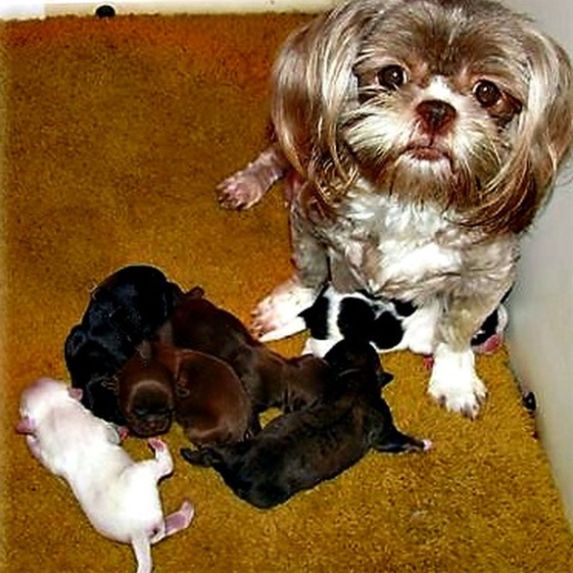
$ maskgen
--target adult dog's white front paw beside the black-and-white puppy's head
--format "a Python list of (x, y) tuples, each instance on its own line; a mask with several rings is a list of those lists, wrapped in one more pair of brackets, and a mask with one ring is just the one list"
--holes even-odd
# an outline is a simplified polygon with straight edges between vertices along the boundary
[(251, 332), (264, 342), (279, 340), (304, 330), (299, 314), (312, 305), (316, 292), (294, 280), (277, 287), (252, 314)]

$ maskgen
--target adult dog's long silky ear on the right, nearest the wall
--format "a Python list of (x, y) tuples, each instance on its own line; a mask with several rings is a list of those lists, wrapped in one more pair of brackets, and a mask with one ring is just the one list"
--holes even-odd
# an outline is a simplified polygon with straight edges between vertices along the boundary
[(515, 145), (499, 173), (482, 189), (480, 206), (468, 217), (490, 233), (519, 233), (532, 222), (573, 144), (573, 70), (564, 50), (521, 22), (517, 41), (526, 57), (521, 65), (527, 87)]

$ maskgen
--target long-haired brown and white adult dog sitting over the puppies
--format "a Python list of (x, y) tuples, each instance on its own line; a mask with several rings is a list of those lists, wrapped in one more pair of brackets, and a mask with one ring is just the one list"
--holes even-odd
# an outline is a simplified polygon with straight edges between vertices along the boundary
[(288, 176), (295, 271), (253, 331), (288, 333), (327, 280), (437, 301), (428, 391), (475, 417), (470, 340), (571, 147), (567, 55), (489, 0), (351, 0), (287, 40), (273, 85), (277, 141), (219, 186), (223, 206), (249, 207)]

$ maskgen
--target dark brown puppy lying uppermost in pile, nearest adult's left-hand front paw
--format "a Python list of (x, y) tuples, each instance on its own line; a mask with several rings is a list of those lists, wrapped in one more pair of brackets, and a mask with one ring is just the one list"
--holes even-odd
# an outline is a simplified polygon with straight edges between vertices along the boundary
[(330, 369), (315, 356), (285, 358), (259, 342), (231, 313), (203, 297), (201, 287), (184, 294), (159, 338), (215, 356), (243, 383), (255, 414), (270, 407), (298, 410), (320, 397)]

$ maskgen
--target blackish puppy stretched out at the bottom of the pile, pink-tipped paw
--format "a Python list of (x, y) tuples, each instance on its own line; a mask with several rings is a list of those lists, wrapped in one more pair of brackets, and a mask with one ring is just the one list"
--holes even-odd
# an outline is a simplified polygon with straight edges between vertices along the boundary
[(265, 509), (334, 478), (370, 448), (393, 453), (429, 449), (429, 441), (394, 426), (380, 396), (392, 377), (368, 342), (338, 342), (326, 361), (334, 374), (319, 402), (275, 418), (252, 440), (195, 451), (183, 448), (183, 458), (213, 467), (237, 496)]

